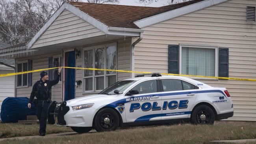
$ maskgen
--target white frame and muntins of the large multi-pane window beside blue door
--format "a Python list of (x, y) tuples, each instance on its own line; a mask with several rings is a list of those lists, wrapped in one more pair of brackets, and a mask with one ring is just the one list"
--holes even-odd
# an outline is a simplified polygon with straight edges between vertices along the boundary
[[(100, 44), (100, 45), (95, 45), (95, 46), (89, 46), (89, 47), (84, 47), (82, 48), (82, 66), (84, 66), (84, 51), (86, 50), (93, 50), (93, 68), (95, 68), (95, 50), (97, 48), (103, 48), (104, 47), (104, 69), (107, 67), (107, 47), (108, 46), (115, 46), (116, 48), (116, 68), (117, 68), (117, 53), (118, 53), (118, 48), (117, 48), (117, 42), (109, 43), (109, 44)], [(102, 77), (104, 76), (104, 89), (108, 87), (108, 79), (107, 76), (116, 76), (116, 81), (117, 81), (117, 72), (115, 74), (107, 74), (106, 71), (104, 71), (103, 75), (96, 76), (95, 75), (95, 70), (93, 70), (93, 76), (84, 76), (84, 70), (82, 71), (82, 94), (88, 94), (88, 93), (98, 93), (101, 92), (102, 90), (96, 90), (96, 77)], [(93, 78), (93, 90), (85, 90), (85, 78)], [(104, 90), (103, 89), (103, 90)]]

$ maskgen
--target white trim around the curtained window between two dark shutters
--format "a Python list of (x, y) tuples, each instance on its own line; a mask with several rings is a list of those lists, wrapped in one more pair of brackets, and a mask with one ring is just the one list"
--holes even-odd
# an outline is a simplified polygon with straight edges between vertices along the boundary
[[(179, 45), (179, 74), (182, 74), (182, 47), (189, 47), (189, 48), (212, 48), (215, 49), (215, 77), (218, 77), (219, 73), (219, 46), (210, 46), (210, 45), (196, 45), (196, 44), (180, 44)], [(189, 77), (193, 79), (217, 79), (217, 78), (198, 78), (198, 77)]]

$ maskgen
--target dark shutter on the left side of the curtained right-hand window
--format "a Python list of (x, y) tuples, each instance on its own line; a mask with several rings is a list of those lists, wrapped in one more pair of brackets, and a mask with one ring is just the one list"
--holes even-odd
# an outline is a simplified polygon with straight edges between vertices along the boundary
[(179, 74), (179, 45), (169, 45), (168, 73)]

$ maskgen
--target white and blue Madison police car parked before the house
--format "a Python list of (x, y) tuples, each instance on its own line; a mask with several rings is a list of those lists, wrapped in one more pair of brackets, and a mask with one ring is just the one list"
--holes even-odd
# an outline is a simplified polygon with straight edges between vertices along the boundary
[(52, 102), (48, 122), (78, 133), (111, 131), (119, 126), (173, 122), (213, 124), (233, 116), (233, 102), (225, 88), (211, 87), (181, 76), (138, 75), (99, 94)]

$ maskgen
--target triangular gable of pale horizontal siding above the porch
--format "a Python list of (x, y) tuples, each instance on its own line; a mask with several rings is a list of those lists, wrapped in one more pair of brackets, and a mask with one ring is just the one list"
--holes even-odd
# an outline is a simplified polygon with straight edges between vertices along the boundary
[(60, 44), (62, 42), (70, 42), (99, 35), (105, 35), (105, 33), (70, 11), (64, 10), (35, 44), (33, 44), (32, 48)]

